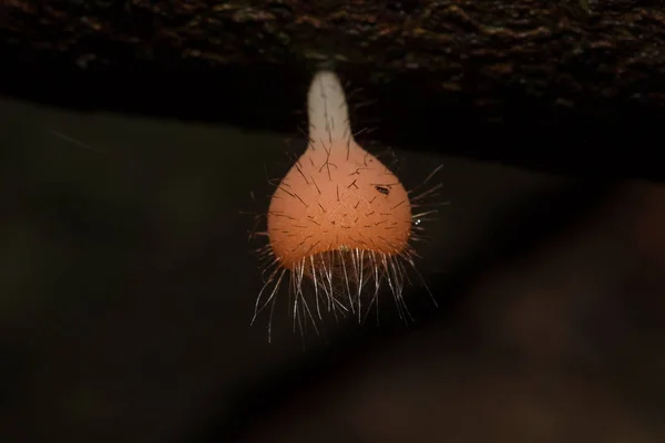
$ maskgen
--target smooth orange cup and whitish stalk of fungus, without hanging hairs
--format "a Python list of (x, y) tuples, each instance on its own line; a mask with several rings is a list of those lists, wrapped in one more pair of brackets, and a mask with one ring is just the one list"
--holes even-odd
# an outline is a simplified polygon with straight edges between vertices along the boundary
[(401, 254), (411, 231), (408, 193), (354, 140), (335, 74), (315, 76), (308, 117), (309, 145), (270, 200), (267, 231), (275, 257), (291, 268), (332, 250)]

